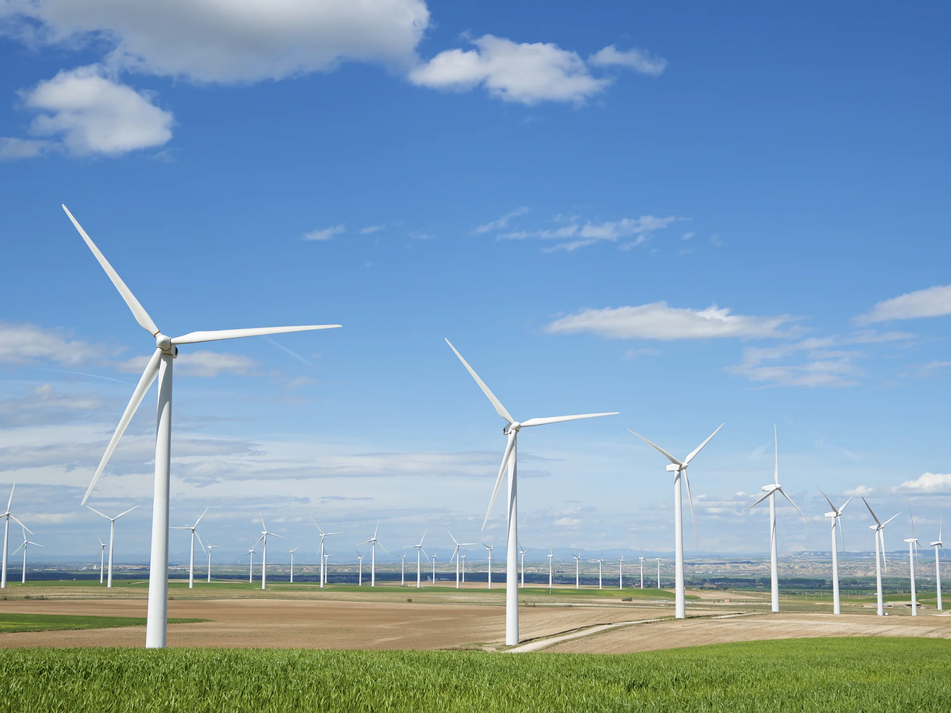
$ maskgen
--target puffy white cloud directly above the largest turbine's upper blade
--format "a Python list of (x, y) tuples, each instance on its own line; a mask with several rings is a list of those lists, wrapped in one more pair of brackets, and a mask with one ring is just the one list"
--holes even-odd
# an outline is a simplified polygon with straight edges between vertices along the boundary
[(150, 97), (108, 79), (102, 68), (61, 71), (33, 89), (20, 92), (23, 104), (39, 112), (29, 130), (53, 142), (5, 139), (8, 158), (26, 158), (44, 150), (66, 149), (77, 156), (117, 155), (163, 146), (172, 137), (171, 113)]

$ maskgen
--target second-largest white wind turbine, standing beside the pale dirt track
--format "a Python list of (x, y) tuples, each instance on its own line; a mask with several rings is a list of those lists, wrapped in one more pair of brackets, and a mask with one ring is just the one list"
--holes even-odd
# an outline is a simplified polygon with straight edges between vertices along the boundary
[(482, 529), (485, 529), (489, 522), (489, 515), (492, 514), (492, 506), (495, 505), (495, 496), (498, 494), (498, 486), (502, 484), (502, 476), (508, 470), (509, 492), (507, 500), (507, 518), (508, 518), (508, 543), (506, 546), (506, 586), (505, 586), (505, 645), (514, 646), (518, 644), (518, 587), (515, 583), (518, 581), (518, 487), (517, 487), (517, 447), (518, 431), (528, 426), (544, 426), (546, 424), (557, 424), (562, 421), (576, 421), (577, 419), (588, 419), (596, 416), (613, 416), (617, 411), (611, 413), (583, 413), (575, 416), (553, 416), (551, 418), (535, 418), (519, 423), (515, 421), (512, 415), (502, 406), (502, 403), (495, 398), (495, 394), (489, 390), (488, 386), (478, 378), (478, 374), (472, 366), (462, 358), (462, 355), (456, 351), (456, 347), (446, 340), (446, 344), (456, 352), (462, 366), (476, 380), (479, 388), (489, 397), (489, 401), (495, 406), (495, 412), (506, 421), (502, 428), (502, 433), (508, 437), (508, 443), (505, 446), (505, 454), (502, 456), (502, 465), (498, 469), (498, 477), (495, 478), (495, 488), (492, 491), (492, 500), (489, 501), (489, 509), (485, 513), (485, 520), (482, 522)]

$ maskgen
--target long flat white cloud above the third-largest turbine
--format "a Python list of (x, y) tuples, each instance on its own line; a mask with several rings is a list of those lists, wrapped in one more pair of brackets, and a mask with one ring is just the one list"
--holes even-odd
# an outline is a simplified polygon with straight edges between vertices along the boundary
[(782, 327), (796, 321), (788, 314), (754, 317), (730, 314), (716, 305), (706, 309), (670, 307), (652, 302), (638, 307), (584, 309), (555, 320), (547, 331), (556, 334), (592, 332), (610, 339), (712, 339), (719, 337), (782, 337)]

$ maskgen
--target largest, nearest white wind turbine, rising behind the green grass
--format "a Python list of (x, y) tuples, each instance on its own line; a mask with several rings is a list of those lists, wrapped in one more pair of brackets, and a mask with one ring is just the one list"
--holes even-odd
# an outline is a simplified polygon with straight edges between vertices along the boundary
[[(265, 334), (281, 334), (291, 331), (306, 331), (311, 329), (326, 329), (340, 327), (340, 325), (309, 325), (305, 327), (259, 327), (251, 329), (221, 329), (217, 331), (195, 331), (181, 337), (167, 337), (148, 316), (145, 307), (126, 287), (119, 274), (109, 265), (106, 257), (99, 248), (96, 248), (86, 230), (72, 217), (72, 213), (63, 206), (72, 225), (86, 241), (87, 247), (92, 250), (99, 264), (106, 270), (112, 284), (119, 290), (126, 305), (132, 311), (139, 325), (155, 338), (155, 351), (148, 360), (146, 370), (139, 380), (138, 386), (132, 393), (132, 399), (126, 406), (126, 411), (116, 426), (115, 433), (109, 440), (106, 453), (103, 455), (99, 467), (96, 468), (92, 481), (89, 483), (82, 505), (86, 505), (92, 488), (95, 487), (99, 476), (106, 467), (109, 456), (119, 444), (119, 439), (126, 432), (126, 426), (131, 421), (136, 409), (146, 396), (148, 387), (156, 377), (159, 380), (159, 404), (156, 415), (155, 439), (155, 485), (152, 502), (152, 547), (148, 568), (148, 613), (146, 619), (146, 648), (164, 648), (166, 641), (166, 627), (168, 623), (168, 490), (170, 484), (171, 462), (171, 427), (172, 427), (172, 364), (178, 356), (178, 346), (214, 342), (222, 339), (237, 339), (239, 337), (253, 337)], [(170, 275), (163, 276), (167, 281)], [(165, 283), (163, 283), (165, 284)], [(166, 288), (168, 288), (166, 286)]]

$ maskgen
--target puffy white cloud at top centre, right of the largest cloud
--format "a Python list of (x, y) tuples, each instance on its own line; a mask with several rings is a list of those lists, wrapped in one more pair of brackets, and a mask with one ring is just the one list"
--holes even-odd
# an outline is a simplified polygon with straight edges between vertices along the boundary
[(476, 50), (446, 50), (410, 72), (410, 81), (431, 89), (463, 91), (483, 85), (508, 102), (582, 104), (611, 84), (592, 77), (585, 61), (552, 43), (517, 43), (491, 34), (472, 41)]

